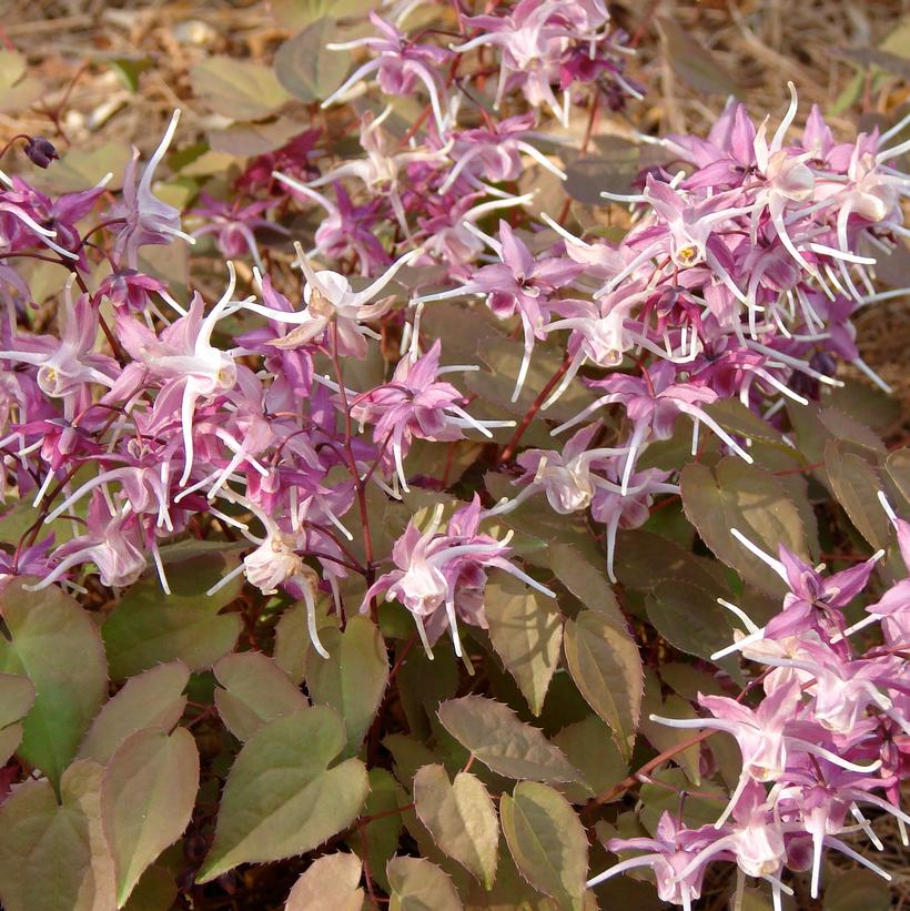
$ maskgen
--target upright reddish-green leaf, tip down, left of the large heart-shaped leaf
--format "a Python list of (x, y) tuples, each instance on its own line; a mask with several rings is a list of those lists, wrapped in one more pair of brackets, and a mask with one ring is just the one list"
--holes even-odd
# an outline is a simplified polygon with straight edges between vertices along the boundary
[(184, 728), (154, 728), (128, 738), (111, 757), (101, 786), (104, 831), (122, 908), (144, 870), (182, 834), (199, 790), (199, 752)]

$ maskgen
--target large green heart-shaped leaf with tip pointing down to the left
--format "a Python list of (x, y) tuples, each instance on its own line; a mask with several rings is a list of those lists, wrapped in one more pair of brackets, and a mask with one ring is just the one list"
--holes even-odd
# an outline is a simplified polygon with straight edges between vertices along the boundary
[(222, 794), (215, 840), (198, 882), (239, 863), (303, 854), (356, 819), (368, 789), (358, 759), (331, 766), (344, 725), (326, 706), (260, 728), (237, 755)]

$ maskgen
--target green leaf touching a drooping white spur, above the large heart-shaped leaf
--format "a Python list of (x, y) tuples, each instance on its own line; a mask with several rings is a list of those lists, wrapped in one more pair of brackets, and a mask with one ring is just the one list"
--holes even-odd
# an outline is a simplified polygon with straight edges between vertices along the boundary
[(332, 706), (344, 721), (347, 749), (356, 752), (385, 694), (388, 656), (368, 617), (352, 617), (342, 632), (321, 634), (328, 658), (310, 649), (304, 660), (306, 689), (314, 704)]

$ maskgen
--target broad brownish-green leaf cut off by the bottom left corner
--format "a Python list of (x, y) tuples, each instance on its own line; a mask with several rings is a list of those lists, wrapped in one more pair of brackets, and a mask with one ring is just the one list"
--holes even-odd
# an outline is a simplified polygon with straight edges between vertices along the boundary
[(0, 901), (6, 911), (102, 911), (117, 907), (114, 864), (101, 822), (97, 762), (73, 762), (60, 804), (47, 779), (27, 781), (0, 806)]

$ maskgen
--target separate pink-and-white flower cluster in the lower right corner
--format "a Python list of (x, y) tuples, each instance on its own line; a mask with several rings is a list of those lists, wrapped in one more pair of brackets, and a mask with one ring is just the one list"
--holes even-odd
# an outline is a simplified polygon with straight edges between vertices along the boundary
[[(898, 518), (887, 499), (904, 563), (910, 559), (910, 524)], [(781, 881), (785, 869), (809, 870), (811, 897), (818, 898), (826, 848), (890, 880), (890, 874), (843, 840), (865, 833), (882, 842), (862, 812), (871, 807), (892, 816), (907, 846), (910, 814), (901, 809), (900, 785), (910, 769), (910, 580), (891, 586), (867, 617), (852, 626), (845, 608), (869, 583), (882, 551), (850, 569), (823, 575), (783, 545), (774, 557), (734, 529), (789, 589), (782, 608), (758, 627), (736, 605), (720, 600), (745, 625), (736, 642), (712, 656), (732, 651), (765, 667), (755, 679), (760, 700), (699, 695), (704, 718), (651, 720), (674, 728), (725, 731), (737, 742), (742, 768), (729, 803), (712, 826), (686, 827), (664, 813), (656, 838), (615, 838), (610, 851), (645, 851), (595, 877), (595, 885), (639, 867), (650, 867), (665, 901), (691, 908), (705, 872), (716, 860), (735, 863), (738, 893), (746, 877), (771, 884), (775, 908), (792, 890)], [(879, 625), (882, 644), (861, 654), (851, 637)], [(744, 696), (746, 691), (744, 691)]]

